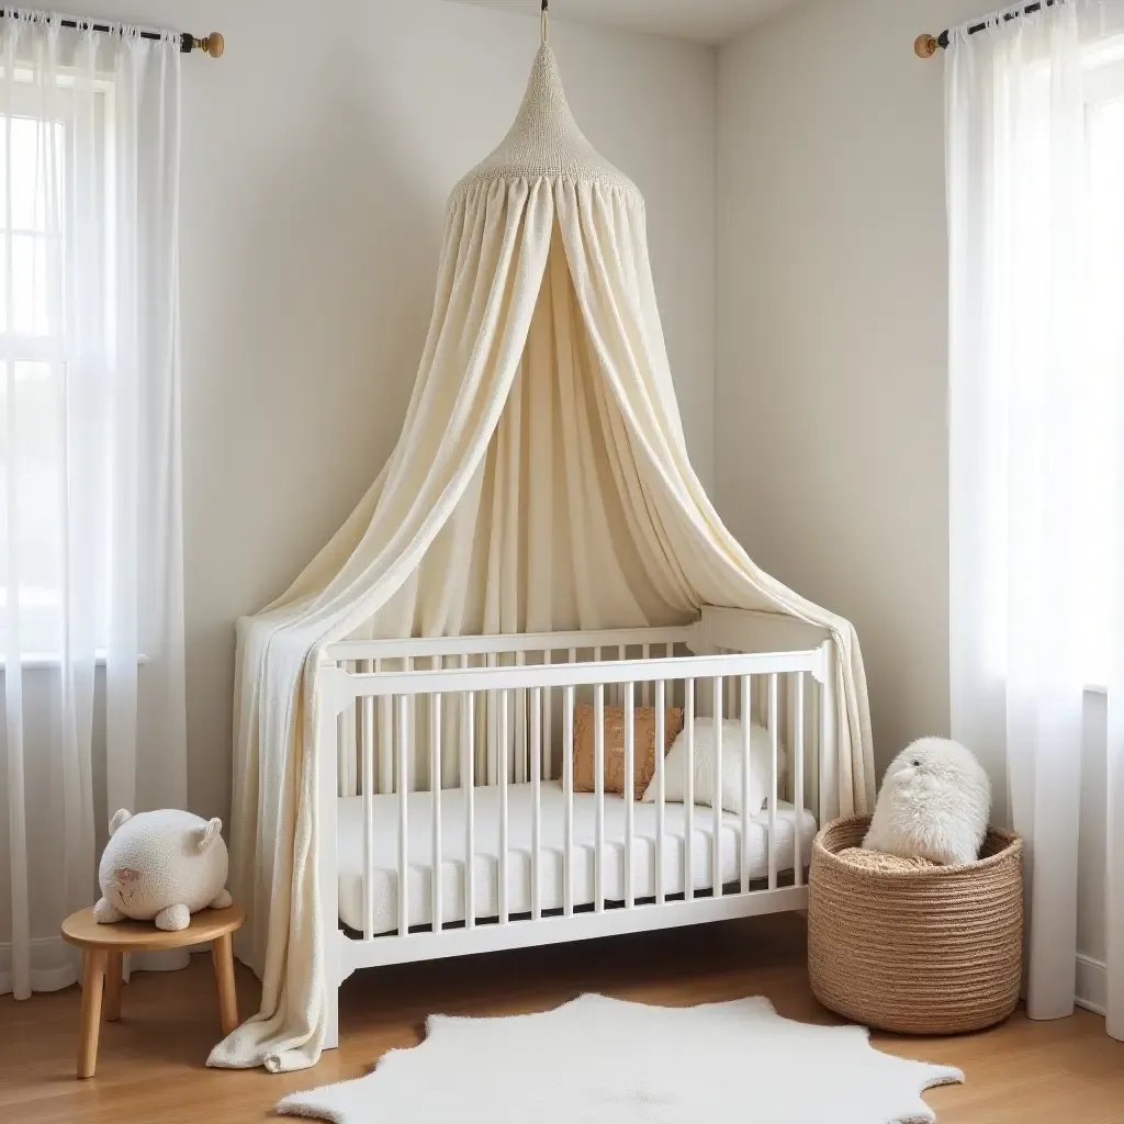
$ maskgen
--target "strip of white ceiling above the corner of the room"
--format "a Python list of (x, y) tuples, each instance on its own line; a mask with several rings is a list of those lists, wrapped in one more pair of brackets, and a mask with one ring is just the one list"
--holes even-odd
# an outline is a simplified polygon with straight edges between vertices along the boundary
[[(453, 0), (534, 15), (540, 0)], [(724, 43), (798, 0), (551, 0), (551, 16), (647, 31), (697, 43)]]

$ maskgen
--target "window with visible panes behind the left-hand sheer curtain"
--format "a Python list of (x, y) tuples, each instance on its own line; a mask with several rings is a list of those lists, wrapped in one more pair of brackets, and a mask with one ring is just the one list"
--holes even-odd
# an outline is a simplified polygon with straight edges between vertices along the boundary
[[(105, 424), (89, 383), (103, 366), (111, 308), (102, 297), (91, 317), (83, 301), (79, 316), (73, 271), (93, 270), (108, 281), (108, 255), (89, 232), (110, 227), (111, 87), (84, 98), (83, 112), (75, 112), (66, 74), (44, 91), (42, 79), (17, 70), (0, 90), (7, 94), (0, 100), (0, 638), (18, 627), (21, 660), (34, 663), (56, 659), (66, 643), (65, 602), (79, 589), (67, 563), (74, 536), (93, 554), (87, 559), (93, 569), (80, 580), (93, 601), (83, 615), (92, 636), (84, 638), (105, 646), (99, 575), (109, 560), (94, 528), (112, 514), (108, 488), (88, 474), (107, 465), (75, 430)], [(79, 208), (87, 209), (81, 245)], [(108, 283), (98, 289), (111, 291)], [(87, 384), (75, 387), (74, 379)], [(88, 475), (81, 504), (67, 502), (75, 472)]]

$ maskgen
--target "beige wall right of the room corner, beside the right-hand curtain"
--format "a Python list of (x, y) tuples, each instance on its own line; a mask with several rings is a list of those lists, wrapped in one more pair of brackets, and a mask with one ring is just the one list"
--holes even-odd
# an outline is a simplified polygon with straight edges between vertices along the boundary
[[(858, 626), (880, 769), (949, 726), (944, 76), (912, 45), (986, 8), (808, 0), (718, 56), (717, 504), (756, 562)], [(1087, 696), (1087, 995), (1104, 715)]]

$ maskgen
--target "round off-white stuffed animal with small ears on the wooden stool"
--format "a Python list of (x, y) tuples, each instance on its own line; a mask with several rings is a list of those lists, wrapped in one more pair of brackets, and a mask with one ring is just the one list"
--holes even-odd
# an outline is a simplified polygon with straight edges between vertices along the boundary
[(109, 822), (109, 843), (98, 868), (105, 895), (93, 907), (103, 925), (132, 917), (157, 928), (187, 928), (191, 914), (230, 905), (223, 821), (165, 809), (133, 816), (124, 808)]

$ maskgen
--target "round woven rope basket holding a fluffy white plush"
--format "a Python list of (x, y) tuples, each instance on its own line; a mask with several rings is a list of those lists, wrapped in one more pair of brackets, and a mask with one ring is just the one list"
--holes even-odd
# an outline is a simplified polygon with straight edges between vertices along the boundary
[(1023, 841), (992, 827), (977, 862), (876, 870), (840, 858), (870, 817), (817, 836), (808, 879), (808, 975), (827, 1008), (901, 1034), (1005, 1019), (1023, 966)]

